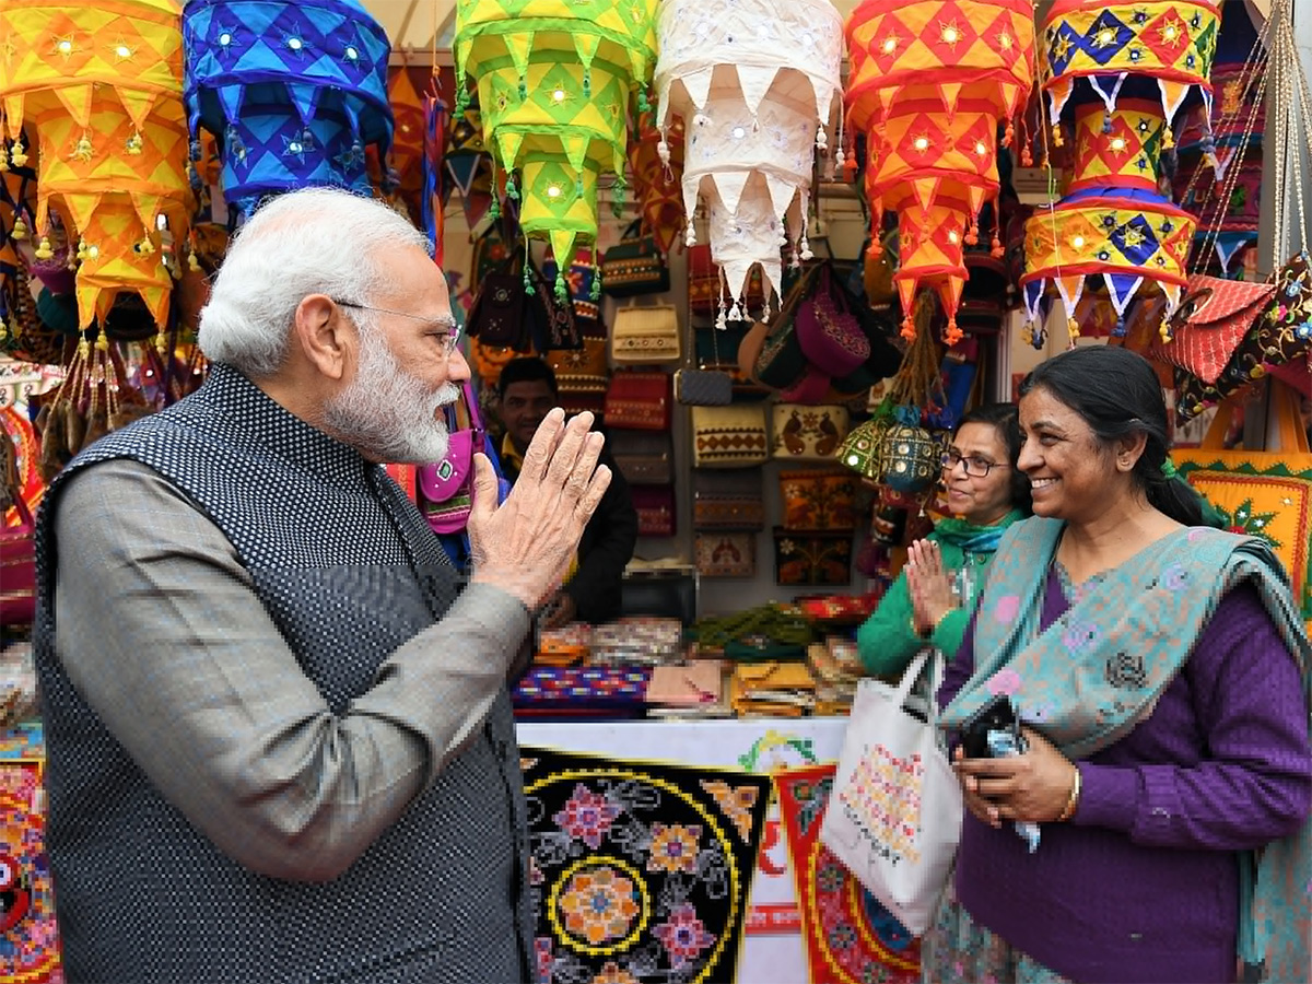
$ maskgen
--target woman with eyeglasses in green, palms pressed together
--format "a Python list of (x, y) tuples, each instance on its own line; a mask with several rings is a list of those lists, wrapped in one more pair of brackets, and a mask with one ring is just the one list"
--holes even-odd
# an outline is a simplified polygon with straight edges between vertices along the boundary
[(907, 565), (857, 631), (866, 672), (901, 677), (920, 647), (951, 656), (962, 644), (984, 568), (1002, 531), (1030, 513), (1030, 480), (1015, 467), (1015, 405), (989, 403), (962, 417), (943, 453), (949, 518), (916, 541)]

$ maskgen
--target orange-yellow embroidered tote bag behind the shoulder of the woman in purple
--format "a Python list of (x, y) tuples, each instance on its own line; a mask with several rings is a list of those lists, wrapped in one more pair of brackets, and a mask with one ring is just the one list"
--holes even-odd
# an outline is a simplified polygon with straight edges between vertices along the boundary
[(1284, 564), (1304, 619), (1312, 619), (1312, 453), (1299, 417), (1299, 398), (1275, 384), (1271, 409), (1279, 451), (1224, 449), (1235, 400), (1216, 411), (1199, 447), (1177, 447), (1170, 457), (1189, 484), (1229, 520), (1233, 533), (1261, 537)]

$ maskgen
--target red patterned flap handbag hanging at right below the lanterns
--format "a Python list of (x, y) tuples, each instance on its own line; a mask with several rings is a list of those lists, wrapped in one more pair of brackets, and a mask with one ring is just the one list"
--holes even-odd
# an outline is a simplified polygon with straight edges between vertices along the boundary
[(1194, 274), (1185, 299), (1168, 321), (1172, 340), (1164, 342), (1158, 337), (1148, 358), (1170, 362), (1204, 383), (1215, 383), (1274, 295), (1274, 283)]

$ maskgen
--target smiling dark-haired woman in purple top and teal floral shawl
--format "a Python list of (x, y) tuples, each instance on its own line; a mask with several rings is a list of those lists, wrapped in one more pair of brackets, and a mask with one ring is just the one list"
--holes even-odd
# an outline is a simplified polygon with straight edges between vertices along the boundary
[(956, 753), (925, 979), (1233, 981), (1239, 954), (1305, 981), (1312, 647), (1283, 571), (1203, 527), (1140, 357), (1075, 349), (1021, 392), (1035, 518), (1004, 537), (939, 703), (954, 727), (1008, 693), (1029, 748)]

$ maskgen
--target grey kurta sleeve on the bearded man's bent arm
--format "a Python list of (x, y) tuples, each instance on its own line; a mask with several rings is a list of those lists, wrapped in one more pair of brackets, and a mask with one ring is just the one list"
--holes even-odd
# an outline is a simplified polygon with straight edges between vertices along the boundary
[(73, 476), (55, 517), (56, 655), (147, 777), (240, 863), (332, 878), (487, 716), (529, 631), (470, 585), (332, 714), (228, 539), (134, 462)]

